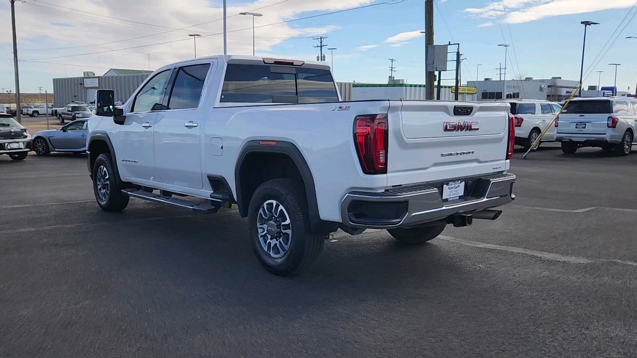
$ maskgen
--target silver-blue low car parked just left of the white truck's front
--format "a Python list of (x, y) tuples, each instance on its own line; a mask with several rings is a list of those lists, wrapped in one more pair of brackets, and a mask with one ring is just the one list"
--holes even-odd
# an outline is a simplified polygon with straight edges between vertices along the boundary
[(37, 155), (49, 155), (51, 152), (86, 152), (88, 122), (88, 119), (78, 119), (60, 129), (33, 134), (33, 151)]

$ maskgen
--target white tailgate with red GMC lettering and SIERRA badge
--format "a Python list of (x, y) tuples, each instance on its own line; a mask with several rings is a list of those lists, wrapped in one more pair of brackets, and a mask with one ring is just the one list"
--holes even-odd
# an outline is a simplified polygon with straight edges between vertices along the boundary
[(508, 103), (392, 101), (387, 184), (503, 172)]

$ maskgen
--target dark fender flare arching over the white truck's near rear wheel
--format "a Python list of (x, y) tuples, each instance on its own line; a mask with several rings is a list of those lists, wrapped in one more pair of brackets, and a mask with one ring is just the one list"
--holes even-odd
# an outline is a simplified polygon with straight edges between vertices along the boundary
[(260, 140), (251, 140), (245, 143), (243, 148), (241, 148), (241, 152), (237, 157), (236, 164), (234, 166), (234, 183), (236, 185), (236, 202), (239, 207), (239, 213), (241, 217), (248, 216), (248, 208), (247, 205), (243, 204), (243, 198), (241, 197), (241, 166), (243, 165), (243, 161), (248, 154), (251, 153), (273, 153), (273, 154), (285, 154), (292, 159), (296, 167), (299, 169), (301, 173), (301, 178), (303, 178), (303, 183), (305, 185), (305, 196), (308, 201), (308, 214), (310, 216), (310, 226), (312, 231), (314, 232), (326, 232), (332, 233), (338, 230), (338, 223), (336, 222), (327, 222), (321, 220), (320, 214), (318, 212), (318, 203), (317, 203), (317, 194), (316, 187), (314, 185), (314, 176), (310, 171), (310, 166), (306, 162), (303, 154), (301, 154), (301, 150), (294, 145), (294, 143), (290, 143), (289, 141), (276, 141), (275, 145), (261, 145)]

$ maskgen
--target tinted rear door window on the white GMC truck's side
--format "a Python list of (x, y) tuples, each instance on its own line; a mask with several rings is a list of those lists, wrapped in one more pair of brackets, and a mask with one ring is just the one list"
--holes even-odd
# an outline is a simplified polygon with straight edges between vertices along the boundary
[(197, 108), (210, 64), (197, 64), (179, 69), (168, 101), (169, 110)]

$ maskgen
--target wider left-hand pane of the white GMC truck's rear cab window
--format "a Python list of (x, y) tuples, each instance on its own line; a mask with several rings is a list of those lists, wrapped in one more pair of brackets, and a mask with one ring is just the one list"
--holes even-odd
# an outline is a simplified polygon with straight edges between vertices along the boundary
[(221, 103), (273, 103), (273, 96), (296, 96), (296, 76), (271, 73), (270, 66), (227, 65)]

